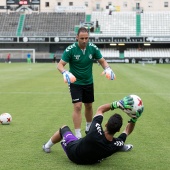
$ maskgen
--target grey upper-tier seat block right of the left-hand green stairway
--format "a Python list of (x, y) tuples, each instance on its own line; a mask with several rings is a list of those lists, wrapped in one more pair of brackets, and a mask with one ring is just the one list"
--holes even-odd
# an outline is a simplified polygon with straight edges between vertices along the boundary
[(26, 14), (23, 36), (70, 36), (74, 27), (85, 21), (85, 13)]

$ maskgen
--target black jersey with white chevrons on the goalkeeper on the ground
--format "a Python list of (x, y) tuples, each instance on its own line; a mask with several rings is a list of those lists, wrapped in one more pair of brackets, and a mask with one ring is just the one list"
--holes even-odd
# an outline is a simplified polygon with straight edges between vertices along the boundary
[(68, 143), (66, 152), (71, 161), (77, 164), (94, 164), (122, 148), (127, 135), (122, 133), (118, 138), (108, 141), (101, 126), (102, 121), (103, 115), (94, 117), (88, 134)]

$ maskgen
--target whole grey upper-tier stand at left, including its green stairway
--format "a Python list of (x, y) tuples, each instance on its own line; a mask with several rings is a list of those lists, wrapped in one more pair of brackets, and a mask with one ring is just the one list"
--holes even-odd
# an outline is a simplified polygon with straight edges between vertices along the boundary
[[(25, 16), (25, 17), (23, 17)], [(23, 18), (22, 18), (23, 17)], [(0, 13), (0, 36), (75, 36), (74, 27), (85, 21), (85, 13)], [(22, 23), (21, 23), (22, 22)], [(21, 25), (21, 30), (19, 26)]]

